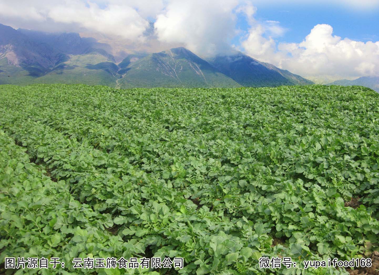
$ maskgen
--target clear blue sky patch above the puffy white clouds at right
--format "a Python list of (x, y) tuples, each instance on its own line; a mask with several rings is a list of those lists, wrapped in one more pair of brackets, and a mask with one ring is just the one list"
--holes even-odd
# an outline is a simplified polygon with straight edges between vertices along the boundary
[[(379, 2), (379, 1), (378, 1)], [(379, 5), (372, 9), (357, 10), (344, 5), (318, 3), (277, 3), (275, 5), (255, 4), (255, 19), (274, 20), (287, 31), (276, 38), (278, 42), (300, 43), (317, 24), (333, 27), (334, 35), (366, 42), (379, 40)], [(246, 17), (238, 15), (237, 27), (247, 31)], [(239, 44), (239, 36), (232, 41)]]

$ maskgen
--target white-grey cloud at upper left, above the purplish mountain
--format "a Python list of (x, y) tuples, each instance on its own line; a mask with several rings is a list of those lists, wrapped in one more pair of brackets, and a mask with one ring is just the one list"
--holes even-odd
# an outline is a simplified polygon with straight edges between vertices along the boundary
[(130, 40), (143, 39), (149, 22), (131, 4), (108, 1), (101, 8), (91, 1), (2, 1), (0, 17), (3, 24), (16, 28), (93, 31)]

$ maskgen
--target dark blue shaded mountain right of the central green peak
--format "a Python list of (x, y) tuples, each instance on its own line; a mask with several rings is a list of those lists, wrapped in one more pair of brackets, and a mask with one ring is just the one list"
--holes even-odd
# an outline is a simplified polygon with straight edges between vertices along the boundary
[(263, 87), (280, 85), (310, 85), (312, 81), (282, 70), (269, 63), (255, 60), (238, 52), (234, 55), (218, 55), (209, 63), (242, 86)]

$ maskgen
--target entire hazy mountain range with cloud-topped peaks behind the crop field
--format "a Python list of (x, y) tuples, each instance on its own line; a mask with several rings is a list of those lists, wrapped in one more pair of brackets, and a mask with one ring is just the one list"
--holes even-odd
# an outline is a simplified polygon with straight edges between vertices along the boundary
[(0, 84), (83, 83), (116, 88), (310, 85), (312, 81), (235, 52), (205, 60), (183, 47), (130, 54), (77, 33), (44, 33), (0, 24)]

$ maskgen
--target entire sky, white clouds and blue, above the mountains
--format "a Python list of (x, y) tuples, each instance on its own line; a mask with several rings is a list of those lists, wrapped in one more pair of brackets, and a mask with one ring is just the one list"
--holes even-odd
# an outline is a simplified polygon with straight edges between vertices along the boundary
[(78, 32), (114, 53), (240, 50), (317, 83), (379, 76), (379, 0), (0, 0), (0, 23)]

